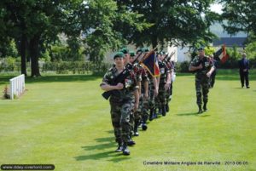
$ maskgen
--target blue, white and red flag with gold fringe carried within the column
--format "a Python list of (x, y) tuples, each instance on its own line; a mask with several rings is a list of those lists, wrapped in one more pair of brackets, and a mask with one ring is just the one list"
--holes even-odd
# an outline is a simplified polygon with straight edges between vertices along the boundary
[(148, 54), (145, 55), (143, 60), (141, 60), (141, 64), (143, 64), (143, 66), (146, 68), (146, 70), (148, 70), (152, 77), (160, 76), (160, 69), (154, 50), (151, 50), (148, 52)]

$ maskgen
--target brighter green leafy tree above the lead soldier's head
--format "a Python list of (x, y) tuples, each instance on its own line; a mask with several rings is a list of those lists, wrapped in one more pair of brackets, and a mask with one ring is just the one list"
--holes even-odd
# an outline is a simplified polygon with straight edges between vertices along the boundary
[[(147, 23), (141, 20), (141, 14), (132, 11), (118, 10), (113, 0), (89, 0), (87, 7), (81, 11), (81, 26), (84, 35), (85, 54), (90, 55), (90, 61), (101, 63), (104, 54), (109, 49), (116, 50), (126, 44), (122, 30), (115, 27), (119, 25), (133, 27), (141, 31), (147, 28)], [(129, 21), (127, 23), (127, 20)]]

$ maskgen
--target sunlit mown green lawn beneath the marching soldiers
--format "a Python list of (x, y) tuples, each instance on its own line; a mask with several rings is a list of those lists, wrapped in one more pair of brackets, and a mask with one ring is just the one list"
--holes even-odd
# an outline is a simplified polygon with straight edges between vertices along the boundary
[[(255, 73), (247, 89), (240, 88), (237, 71), (219, 71), (209, 110), (201, 116), (196, 114), (194, 75), (177, 74), (171, 111), (140, 131), (128, 157), (114, 152), (101, 77), (27, 78), (20, 99), (0, 100), (0, 165), (54, 164), (58, 171), (256, 170)], [(0, 76), (1, 90), (9, 77)]]

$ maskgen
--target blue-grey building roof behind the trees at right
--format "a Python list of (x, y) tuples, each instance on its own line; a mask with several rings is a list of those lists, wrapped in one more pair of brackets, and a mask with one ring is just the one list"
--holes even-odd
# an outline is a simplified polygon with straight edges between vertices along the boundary
[(220, 37), (219, 39), (213, 40), (213, 46), (221, 46), (225, 44), (226, 47), (244, 47), (244, 43), (247, 37)]

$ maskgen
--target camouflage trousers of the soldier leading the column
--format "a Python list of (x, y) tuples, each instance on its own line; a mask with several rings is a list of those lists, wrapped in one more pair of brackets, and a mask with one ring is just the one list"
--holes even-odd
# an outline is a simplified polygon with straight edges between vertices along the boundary
[(132, 100), (110, 100), (110, 113), (116, 142), (127, 143), (130, 140), (130, 117), (132, 106)]

